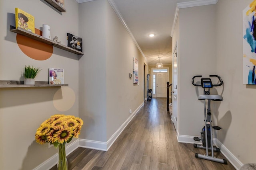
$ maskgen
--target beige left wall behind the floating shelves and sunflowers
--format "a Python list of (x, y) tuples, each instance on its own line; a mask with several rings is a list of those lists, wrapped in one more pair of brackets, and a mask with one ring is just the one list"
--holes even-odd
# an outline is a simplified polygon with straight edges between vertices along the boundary
[[(57, 113), (78, 116), (78, 55), (54, 47), (45, 61), (26, 56), (16, 43), (16, 33), (9, 31), (9, 25), (15, 25), (15, 8), (33, 15), (38, 29), (44, 23), (50, 25), (52, 37), (57, 35), (66, 45), (67, 32), (78, 35), (78, 3), (65, 1), (67, 12), (60, 14), (44, 1), (0, 0), (0, 80), (23, 80), (23, 68), (30, 64), (42, 69), (36, 81), (48, 81), (48, 68), (56, 67), (64, 68), (65, 84), (69, 84), (63, 88), (0, 89), (0, 169), (30, 170), (57, 153), (54, 147), (35, 142), (40, 124)], [(67, 95), (74, 95), (74, 100)], [(70, 109), (59, 111), (58, 106), (64, 108), (71, 102)]]

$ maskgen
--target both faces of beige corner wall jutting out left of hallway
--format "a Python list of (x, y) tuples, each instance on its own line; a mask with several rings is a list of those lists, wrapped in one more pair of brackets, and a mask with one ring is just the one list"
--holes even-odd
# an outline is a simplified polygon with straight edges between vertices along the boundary
[[(79, 4), (79, 35), (86, 37), (79, 60), (79, 115), (86, 122), (80, 138), (107, 142), (129, 109), (143, 103), (144, 58), (108, 1)], [(129, 78), (133, 57), (139, 60), (140, 85)]]

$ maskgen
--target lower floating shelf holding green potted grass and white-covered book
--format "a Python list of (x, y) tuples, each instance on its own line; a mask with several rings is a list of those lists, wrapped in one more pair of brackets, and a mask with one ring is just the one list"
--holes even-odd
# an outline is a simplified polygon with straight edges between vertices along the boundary
[(44, 81), (36, 81), (35, 85), (25, 85), (24, 81), (0, 80), (0, 88), (23, 88), (23, 87), (60, 87), (68, 84), (48, 84)]

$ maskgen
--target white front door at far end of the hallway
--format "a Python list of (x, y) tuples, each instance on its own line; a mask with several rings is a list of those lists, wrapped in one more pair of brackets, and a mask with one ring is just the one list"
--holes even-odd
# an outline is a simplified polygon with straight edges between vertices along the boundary
[(156, 97), (157, 98), (166, 98), (166, 82), (168, 82), (168, 73), (157, 73), (156, 74)]

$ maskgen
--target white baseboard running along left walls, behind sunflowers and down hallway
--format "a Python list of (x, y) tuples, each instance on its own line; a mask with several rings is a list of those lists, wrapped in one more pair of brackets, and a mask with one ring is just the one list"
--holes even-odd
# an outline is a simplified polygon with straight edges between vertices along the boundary
[[(122, 124), (122, 126), (110, 137), (107, 142), (100, 142), (100, 141), (91, 141), (86, 139), (77, 139), (75, 142), (71, 143), (66, 148), (66, 155), (72, 153), (78, 147), (82, 148), (89, 148), (89, 149), (96, 149), (96, 150), (103, 150), (107, 151), (111, 145), (116, 141), (118, 136), (122, 133), (124, 128), (128, 125), (128, 123), (133, 119), (133, 117), (138, 113), (140, 108), (144, 106), (144, 102), (140, 104), (140, 106), (128, 117), (128, 119)], [(54, 154), (48, 160), (44, 161), (42, 164), (34, 168), (34, 170), (49, 170), (58, 162), (58, 154)]]

